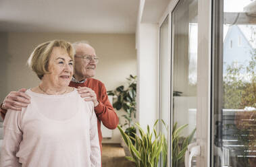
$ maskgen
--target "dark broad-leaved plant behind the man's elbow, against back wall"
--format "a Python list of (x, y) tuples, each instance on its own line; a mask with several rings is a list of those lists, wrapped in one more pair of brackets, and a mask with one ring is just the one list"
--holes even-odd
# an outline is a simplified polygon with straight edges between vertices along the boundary
[(126, 79), (128, 80), (127, 88), (118, 86), (116, 90), (107, 91), (107, 95), (113, 96), (113, 108), (116, 108), (116, 110), (123, 109), (126, 112), (126, 114), (122, 115), (125, 123), (120, 124), (120, 127), (125, 128), (126, 134), (134, 137), (136, 128), (134, 127), (132, 118), (136, 118), (136, 76), (130, 75)]

